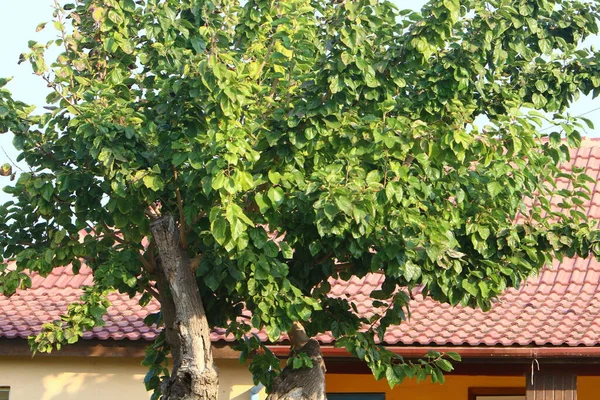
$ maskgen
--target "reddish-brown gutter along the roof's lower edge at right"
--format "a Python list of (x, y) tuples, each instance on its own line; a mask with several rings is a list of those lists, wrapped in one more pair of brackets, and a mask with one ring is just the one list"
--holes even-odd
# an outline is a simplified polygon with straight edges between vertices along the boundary
[[(275, 355), (289, 355), (289, 346), (273, 345), (268, 346)], [(468, 346), (402, 346), (387, 347), (388, 350), (405, 358), (424, 357), (429, 351), (440, 353), (455, 352), (463, 358), (486, 358), (486, 357), (504, 357), (504, 358), (552, 358), (552, 357), (575, 357), (591, 358), (600, 357), (599, 346), (573, 346), (573, 347), (468, 347)], [(344, 348), (333, 346), (321, 346), (321, 352), (324, 357), (331, 358), (353, 358)]]

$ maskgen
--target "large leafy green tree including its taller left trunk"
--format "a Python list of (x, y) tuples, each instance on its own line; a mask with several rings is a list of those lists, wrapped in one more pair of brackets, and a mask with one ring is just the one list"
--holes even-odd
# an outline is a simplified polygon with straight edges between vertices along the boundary
[[(553, 257), (600, 254), (589, 177), (559, 169), (581, 140), (566, 108), (599, 90), (599, 54), (581, 45), (598, 16), (552, 0), (56, 3), (59, 38), (21, 59), (53, 89), (50, 110), (0, 91), (0, 131), (31, 169), (0, 207), (16, 262), (0, 291), (27, 287), (26, 271), (92, 269), (36, 351), (102, 324), (107, 291), (157, 297), (147, 385), (164, 399), (216, 398), (213, 327), (267, 385), (279, 362), (250, 329), (275, 341), (294, 322), (391, 385), (441, 381), (447, 357), (377, 345), (410, 289), (488, 309)], [(386, 277), (376, 315), (327, 296), (330, 277), (369, 273)], [(293, 366), (312, 366), (302, 354)]]

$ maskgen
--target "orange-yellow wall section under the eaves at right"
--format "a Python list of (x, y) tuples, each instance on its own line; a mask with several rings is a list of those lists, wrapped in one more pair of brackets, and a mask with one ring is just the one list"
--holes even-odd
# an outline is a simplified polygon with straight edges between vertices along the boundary
[[(371, 375), (328, 375), (327, 391), (329, 393), (344, 392), (383, 392), (386, 400), (468, 400), (470, 387), (525, 387), (525, 377), (498, 376), (446, 376), (443, 385), (415, 380), (404, 381), (401, 385), (390, 389), (387, 382), (375, 381)], [(577, 380), (578, 400), (597, 400), (600, 377), (579, 377)]]

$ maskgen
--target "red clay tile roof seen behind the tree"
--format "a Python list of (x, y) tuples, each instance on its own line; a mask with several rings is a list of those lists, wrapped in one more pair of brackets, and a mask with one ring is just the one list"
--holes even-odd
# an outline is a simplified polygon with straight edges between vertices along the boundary
[[(588, 175), (600, 177), (600, 140), (587, 139), (572, 151), (572, 163), (586, 167)], [(565, 166), (565, 170), (570, 170)], [(600, 186), (594, 185), (588, 215), (600, 219)], [(379, 274), (350, 281), (332, 281), (331, 295), (355, 302), (360, 313), (372, 310), (369, 294), (383, 281)], [(6, 298), (0, 295), (0, 338), (27, 338), (45, 322), (58, 319), (69, 303), (82, 294), (81, 286), (92, 284), (89, 270), (73, 275), (70, 268), (57, 268), (46, 278), (32, 277), (32, 288), (18, 290)], [(520, 289), (510, 289), (489, 312), (451, 307), (416, 295), (410, 302), (411, 319), (391, 327), (389, 345), (451, 346), (600, 346), (600, 262), (593, 259), (565, 259), (544, 268)], [(144, 317), (158, 310), (151, 302), (142, 309), (137, 298), (113, 293), (106, 326), (94, 328), (86, 339), (151, 340), (157, 330), (144, 325)], [(264, 335), (263, 335), (264, 336)], [(266, 339), (266, 336), (264, 337)], [(331, 343), (331, 335), (319, 340)], [(223, 330), (212, 333), (213, 341), (232, 340)]]

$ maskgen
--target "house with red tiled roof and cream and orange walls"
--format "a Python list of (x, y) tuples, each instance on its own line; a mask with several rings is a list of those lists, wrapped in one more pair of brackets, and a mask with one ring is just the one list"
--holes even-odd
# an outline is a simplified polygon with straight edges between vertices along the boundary
[[(572, 162), (600, 177), (600, 140), (586, 140)], [(565, 168), (569, 168), (566, 166)], [(586, 205), (600, 218), (600, 185)], [(360, 312), (369, 312), (368, 294), (381, 283), (378, 275), (332, 282), (332, 296), (348, 296)], [(157, 334), (143, 323), (151, 304), (141, 310), (135, 299), (112, 294), (106, 326), (87, 332), (84, 340), (51, 355), (33, 359), (26, 338), (55, 319), (91, 283), (85, 272), (59, 268), (48, 277), (34, 276), (33, 287), (0, 297), (0, 400), (147, 399), (140, 365), (144, 347)], [(390, 328), (385, 343), (405, 358), (428, 350), (455, 351), (463, 361), (446, 375), (446, 383), (405, 381), (393, 390), (376, 382), (365, 365), (332, 337), (321, 335), (328, 368), (327, 390), (336, 400), (558, 400), (598, 398), (600, 387), (600, 262), (565, 259), (546, 267), (520, 289), (511, 289), (484, 313), (440, 305), (417, 294), (411, 319)], [(212, 334), (221, 372), (220, 399), (250, 399), (255, 390), (244, 365), (237, 362), (228, 338)], [(275, 353), (289, 348), (273, 345)], [(264, 394), (262, 394), (264, 396)], [(252, 397), (255, 398), (255, 397)]]

